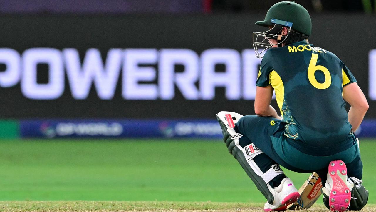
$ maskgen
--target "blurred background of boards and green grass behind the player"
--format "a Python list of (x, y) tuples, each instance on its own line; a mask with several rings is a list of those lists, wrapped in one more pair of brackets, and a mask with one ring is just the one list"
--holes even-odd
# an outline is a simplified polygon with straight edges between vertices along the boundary
[[(215, 114), (254, 114), (252, 32), (277, 2), (0, 1), (0, 200), (264, 201)], [(376, 1), (296, 2), (368, 99), (376, 189)]]

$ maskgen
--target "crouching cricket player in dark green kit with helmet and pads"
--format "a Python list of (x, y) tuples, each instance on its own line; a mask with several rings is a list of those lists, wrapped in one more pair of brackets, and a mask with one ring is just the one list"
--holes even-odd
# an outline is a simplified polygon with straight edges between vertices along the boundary
[[(299, 198), (279, 165), (317, 172), (328, 209), (362, 209), (368, 190), (353, 132), (368, 103), (355, 77), (335, 54), (308, 43), (311, 18), (303, 6), (276, 3), (256, 25), (266, 29), (253, 33), (256, 56), (264, 54), (256, 81), (257, 115), (217, 114), (230, 154), (267, 198), (265, 211), (286, 210)], [(270, 106), (273, 90), (281, 116)]]

